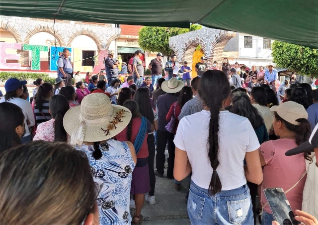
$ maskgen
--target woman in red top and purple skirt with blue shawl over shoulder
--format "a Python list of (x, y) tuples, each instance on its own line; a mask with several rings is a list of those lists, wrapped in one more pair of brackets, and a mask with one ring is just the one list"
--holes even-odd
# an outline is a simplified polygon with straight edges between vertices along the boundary
[(133, 216), (133, 222), (139, 224), (143, 221), (141, 210), (145, 202), (145, 194), (151, 190), (147, 138), (148, 132), (154, 131), (154, 125), (151, 124), (146, 117), (140, 114), (137, 102), (133, 100), (127, 100), (123, 107), (126, 107), (128, 110), (130, 110), (132, 117), (128, 126), (116, 135), (116, 139), (119, 141), (130, 141), (135, 147), (137, 164), (133, 172), (130, 190), (130, 194), (134, 195), (135, 200), (132, 199), (130, 201), (130, 207), (136, 209), (136, 213)]

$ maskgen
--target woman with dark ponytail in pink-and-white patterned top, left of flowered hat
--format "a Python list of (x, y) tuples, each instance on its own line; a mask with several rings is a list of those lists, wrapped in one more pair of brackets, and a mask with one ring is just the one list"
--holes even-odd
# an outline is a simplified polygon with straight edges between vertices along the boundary
[(69, 101), (63, 95), (54, 95), (50, 101), (49, 112), (52, 119), (38, 125), (33, 140), (67, 141), (68, 135), (63, 126), (63, 118), (69, 110)]

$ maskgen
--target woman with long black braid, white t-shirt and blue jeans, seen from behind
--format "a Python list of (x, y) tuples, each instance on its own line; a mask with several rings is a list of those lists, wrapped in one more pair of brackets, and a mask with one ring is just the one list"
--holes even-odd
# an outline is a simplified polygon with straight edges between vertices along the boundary
[(246, 180), (262, 181), (257, 136), (247, 118), (224, 110), (230, 85), (222, 71), (202, 75), (199, 95), (204, 110), (182, 118), (174, 138), (174, 178), (181, 181), (192, 172), (191, 224), (251, 225)]

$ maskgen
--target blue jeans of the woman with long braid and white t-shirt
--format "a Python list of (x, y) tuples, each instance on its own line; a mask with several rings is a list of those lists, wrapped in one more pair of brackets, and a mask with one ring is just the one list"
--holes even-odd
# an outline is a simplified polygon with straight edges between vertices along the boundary
[(252, 202), (247, 185), (210, 195), (191, 181), (188, 214), (191, 225), (253, 225)]

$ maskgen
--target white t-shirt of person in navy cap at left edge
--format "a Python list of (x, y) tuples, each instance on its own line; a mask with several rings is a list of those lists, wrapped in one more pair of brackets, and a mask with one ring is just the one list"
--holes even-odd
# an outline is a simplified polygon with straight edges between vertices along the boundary
[[(5, 99), (4, 97), (0, 100), (0, 103), (4, 103)], [(13, 103), (14, 105), (17, 105), (18, 107), (20, 107), (22, 109), (22, 112), (24, 114), (24, 122), (25, 122), (25, 135), (29, 136), (31, 135), (30, 130), (29, 130), (29, 126), (34, 126), (35, 125), (35, 118), (34, 118), (34, 114), (32, 111), (32, 107), (31, 104), (23, 99), (20, 98), (13, 98), (13, 99), (9, 99), (8, 101), (6, 101), (7, 103)], [(27, 125), (26, 120), (29, 120), (30, 124)]]

